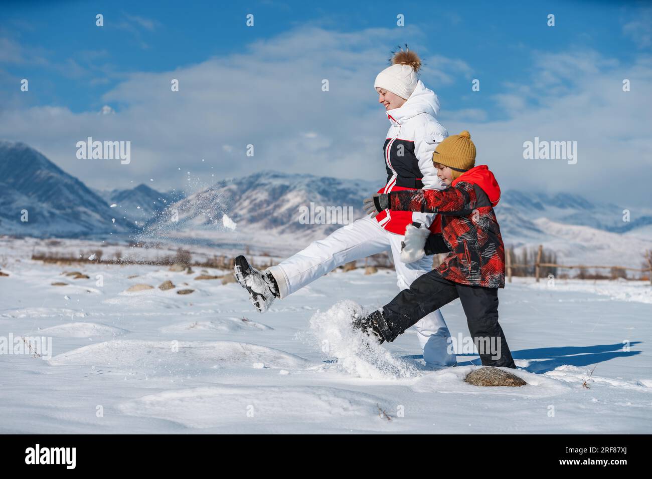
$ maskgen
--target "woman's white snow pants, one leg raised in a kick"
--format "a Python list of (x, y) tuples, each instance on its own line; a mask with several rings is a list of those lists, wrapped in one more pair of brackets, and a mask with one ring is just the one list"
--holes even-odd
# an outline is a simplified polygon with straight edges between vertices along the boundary
[[(280, 298), (285, 298), (340, 265), (391, 250), (398, 287), (400, 290), (408, 289), (414, 280), (432, 269), (432, 256), (415, 263), (403, 263), (400, 259), (403, 239), (403, 235), (381, 228), (376, 220), (366, 216), (333, 231), (325, 239), (312, 242), (304, 250), (267, 270), (278, 283)], [(388, 302), (390, 299), (387, 298)], [(426, 364), (456, 364), (455, 355), (447, 352), (451, 333), (439, 310), (423, 317), (414, 328)]]

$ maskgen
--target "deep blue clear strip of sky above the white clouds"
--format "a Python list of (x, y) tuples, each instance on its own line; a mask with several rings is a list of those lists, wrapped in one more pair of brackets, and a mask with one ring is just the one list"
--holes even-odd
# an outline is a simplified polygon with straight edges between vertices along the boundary
[[(487, 1), (469, 2), (466, 8), (436, 1), (237, 3), (205, 2), (188, 8), (165, 1), (10, 2), (3, 7), (3, 33), (25, 49), (35, 48), (31, 54), (68, 68), (27, 65), (7, 71), (46, 85), (34, 95), (38, 104), (86, 111), (104, 104), (102, 93), (115, 86), (121, 74), (162, 72), (239, 53), (253, 40), (269, 40), (308, 24), (344, 33), (398, 28), (396, 15), (402, 13), (408, 25), (422, 32), (408, 33), (408, 45), (423, 44), (432, 53), (459, 57), (473, 65), (475, 76), (491, 79), (481, 83), (487, 95), (467, 101), (466, 82), (439, 86), (437, 93), (447, 108), (458, 109), (486, 107), (489, 94), (503, 90), (503, 81), (527, 80), (533, 50), (595, 48), (622, 61), (632, 61), (639, 50), (636, 37), (614, 35), (614, 30), (620, 33), (621, 23), (636, 20), (636, 12), (625, 2), (513, 2), (499, 8)], [(95, 25), (97, 13), (104, 14), (102, 28)], [(245, 26), (248, 13), (255, 15), (254, 28)], [(546, 25), (549, 13), (556, 15), (555, 27)], [(428, 76), (422, 80), (429, 84)]]

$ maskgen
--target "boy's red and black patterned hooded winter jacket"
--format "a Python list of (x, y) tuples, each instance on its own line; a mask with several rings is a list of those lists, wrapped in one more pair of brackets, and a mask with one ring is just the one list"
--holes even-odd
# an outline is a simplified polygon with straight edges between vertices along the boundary
[(505, 247), (494, 206), (500, 188), (485, 165), (469, 169), (445, 190), (391, 192), (392, 210), (441, 214), (441, 233), (451, 253), (437, 267), (449, 281), (505, 287)]

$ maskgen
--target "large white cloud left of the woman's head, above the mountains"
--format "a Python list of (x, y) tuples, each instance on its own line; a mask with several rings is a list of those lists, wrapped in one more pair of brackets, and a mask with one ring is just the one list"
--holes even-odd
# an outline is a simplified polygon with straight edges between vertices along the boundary
[[(301, 27), (234, 55), (171, 72), (130, 74), (100, 99), (115, 115), (65, 108), (5, 111), (0, 130), (99, 188), (124, 186), (125, 177), (145, 181), (151, 171), (159, 184), (177, 186), (188, 169), (207, 181), (209, 173), (225, 177), (259, 169), (383, 179), (381, 147), (389, 122), (373, 84), (403, 35)], [(437, 79), (470, 71), (462, 61), (419, 53), (430, 58), (431, 70), (445, 70), (424, 70), (422, 78), (435, 90)], [(171, 91), (173, 79), (179, 92)], [(321, 90), (323, 79), (329, 80), (327, 92)], [(74, 145), (88, 136), (131, 141), (130, 164), (80, 162)], [(254, 145), (253, 157), (246, 156), (248, 144)]]

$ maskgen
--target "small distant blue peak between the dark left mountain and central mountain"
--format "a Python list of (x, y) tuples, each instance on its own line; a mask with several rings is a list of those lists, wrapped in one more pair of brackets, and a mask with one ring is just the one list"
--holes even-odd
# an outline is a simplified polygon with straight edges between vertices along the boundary
[(95, 190), (108, 205), (125, 220), (144, 224), (164, 210), (168, 205), (185, 197), (178, 192), (161, 193), (146, 184), (139, 184), (127, 190)]

